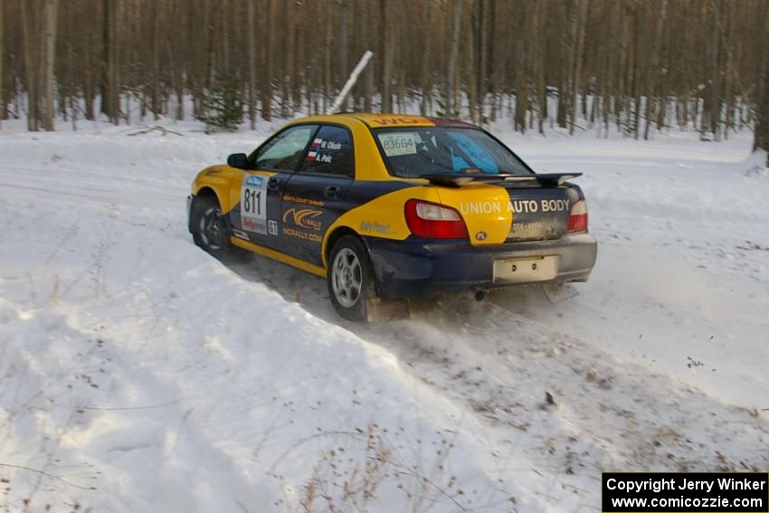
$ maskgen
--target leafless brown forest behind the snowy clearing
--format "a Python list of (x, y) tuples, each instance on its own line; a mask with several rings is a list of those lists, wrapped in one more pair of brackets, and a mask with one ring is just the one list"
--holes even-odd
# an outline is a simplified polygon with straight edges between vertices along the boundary
[(325, 109), (366, 49), (346, 109), (718, 140), (769, 101), (769, 0), (0, 0), (0, 119), (185, 119), (228, 80), (253, 126)]

